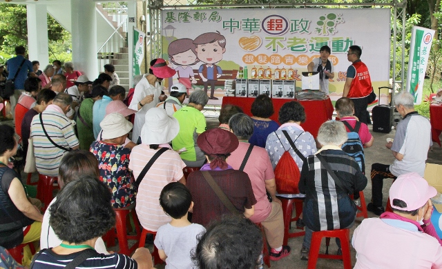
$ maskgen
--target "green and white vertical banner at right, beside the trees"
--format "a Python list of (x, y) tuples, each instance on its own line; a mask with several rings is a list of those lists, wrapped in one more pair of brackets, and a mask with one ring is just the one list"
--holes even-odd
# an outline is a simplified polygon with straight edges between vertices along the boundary
[(406, 90), (414, 96), (415, 105), (419, 105), (422, 101), (423, 79), (427, 70), (433, 37), (434, 30), (413, 27)]

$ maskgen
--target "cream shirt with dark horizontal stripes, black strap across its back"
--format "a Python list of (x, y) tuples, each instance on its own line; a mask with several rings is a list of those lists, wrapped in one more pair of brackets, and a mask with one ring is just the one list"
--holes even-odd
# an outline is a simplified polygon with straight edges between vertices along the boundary
[[(75, 136), (74, 128), (61, 108), (50, 105), (42, 113), (44, 128), (49, 137), (64, 148), (74, 148), (78, 146), (78, 139)], [(41, 127), (39, 114), (32, 118), (30, 125), (30, 137), (34, 143), (35, 166), (42, 175), (50, 177), (58, 176), (58, 168), (65, 150), (54, 146), (44, 134)]]

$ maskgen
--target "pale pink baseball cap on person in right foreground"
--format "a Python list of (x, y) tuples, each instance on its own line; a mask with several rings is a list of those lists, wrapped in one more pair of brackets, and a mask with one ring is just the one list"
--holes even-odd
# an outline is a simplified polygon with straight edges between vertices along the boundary
[[(398, 210), (412, 211), (421, 208), (428, 199), (435, 197), (437, 190), (416, 172), (400, 175), (390, 188), (390, 206)], [(407, 203), (406, 208), (393, 206), (393, 200)]]

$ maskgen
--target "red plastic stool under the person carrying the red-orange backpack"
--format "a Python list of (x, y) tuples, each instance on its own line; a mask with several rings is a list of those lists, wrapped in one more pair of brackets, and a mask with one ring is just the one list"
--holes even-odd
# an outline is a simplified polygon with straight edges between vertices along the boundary
[[(282, 202), (282, 215), (284, 216), (284, 241), (283, 246), (289, 244), (289, 238), (292, 237), (302, 237), (305, 235), (305, 231), (301, 232), (290, 232), (290, 226), (292, 221), (297, 221), (302, 213), (302, 203), (304, 200), (299, 198), (284, 198), (278, 197)], [(296, 217), (292, 218), (291, 213), (293, 209), (296, 209)]]

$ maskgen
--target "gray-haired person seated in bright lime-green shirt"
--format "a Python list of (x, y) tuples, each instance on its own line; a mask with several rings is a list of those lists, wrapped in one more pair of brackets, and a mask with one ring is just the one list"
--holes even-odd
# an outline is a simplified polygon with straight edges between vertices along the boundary
[(206, 157), (198, 147), (196, 139), (206, 130), (206, 118), (201, 110), (208, 101), (209, 97), (205, 92), (195, 90), (189, 98), (189, 104), (173, 114), (180, 123), (180, 132), (172, 140), (173, 150), (186, 148), (180, 157), (189, 167), (201, 167), (206, 162)]

